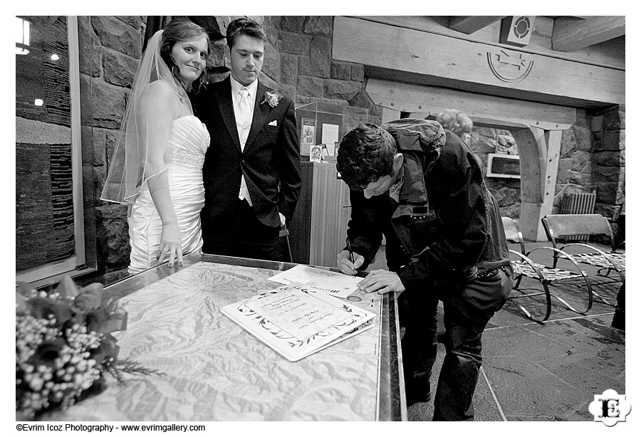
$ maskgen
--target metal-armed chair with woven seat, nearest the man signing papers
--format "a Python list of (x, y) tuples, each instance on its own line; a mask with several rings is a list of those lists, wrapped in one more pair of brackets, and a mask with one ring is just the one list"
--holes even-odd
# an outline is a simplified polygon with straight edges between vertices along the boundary
[[(512, 256), (511, 258), (513, 258), (511, 260), (511, 265), (514, 269), (515, 279), (514, 285), (512, 287), (513, 293), (511, 294), (509, 300), (513, 302), (514, 305), (516, 305), (518, 309), (521, 310), (521, 312), (523, 312), (523, 314), (525, 314), (529, 319), (538, 323), (543, 323), (550, 317), (550, 314), (552, 312), (552, 298), (555, 298), (556, 300), (561, 302), (570, 311), (578, 312), (579, 314), (585, 314), (586, 312), (588, 312), (592, 307), (593, 302), (592, 286), (590, 285), (590, 279), (588, 278), (588, 275), (583, 270), (581, 270), (578, 263), (573, 259), (573, 257), (567, 255), (566, 253), (563, 253), (558, 248), (551, 248), (548, 246), (539, 246), (526, 253), (525, 244), (523, 243), (523, 234), (518, 229), (516, 221), (509, 217), (501, 217), (501, 219), (503, 220), (506, 240), (510, 241), (511, 243), (519, 243), (521, 245), (521, 252), (514, 251), (512, 249), (509, 250)], [(576, 271), (563, 270), (560, 268), (556, 268), (556, 266), (549, 267), (548, 265), (535, 263), (529, 258), (530, 254), (535, 251), (551, 251), (553, 253), (553, 256), (557, 256), (558, 254), (562, 254), (563, 256), (567, 255), (568, 260), (574, 263)], [(516, 259), (514, 259), (515, 257)], [(542, 290), (541, 288), (522, 287), (521, 280), (524, 277), (538, 281), (538, 283), (541, 284)], [(573, 283), (578, 280), (581, 282), (580, 285)], [(583, 282), (585, 282), (585, 288), (587, 289), (588, 293), (587, 304), (584, 307), (577, 309), (575, 308), (575, 306), (570, 305), (570, 303), (568, 303), (563, 298), (560, 298), (557, 295), (553, 295), (550, 291), (550, 286), (556, 285), (556, 283), (561, 283), (561, 281), (564, 281), (564, 284), (566, 285), (573, 285), (580, 290), (583, 290)], [(518, 294), (514, 294), (515, 292)], [(528, 305), (530, 310), (528, 310), (520, 303), (526, 298), (535, 298), (536, 296), (540, 295), (545, 296), (545, 307), (543, 310), (543, 315), (539, 315), (541, 314), (541, 312), (538, 312), (536, 315), (533, 314), (533, 308), (537, 306), (540, 307), (541, 302), (530, 300), (529, 302), (531, 303), (530, 305)]]

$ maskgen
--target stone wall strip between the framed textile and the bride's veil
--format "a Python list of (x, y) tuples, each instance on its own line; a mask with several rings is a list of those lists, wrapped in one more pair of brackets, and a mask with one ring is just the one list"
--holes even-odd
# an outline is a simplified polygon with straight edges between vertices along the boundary
[[(80, 107), (83, 149), (93, 155), (98, 278), (127, 275), (127, 208), (100, 200), (127, 97), (142, 53), (144, 16), (79, 16)], [(85, 187), (86, 189), (86, 187)]]

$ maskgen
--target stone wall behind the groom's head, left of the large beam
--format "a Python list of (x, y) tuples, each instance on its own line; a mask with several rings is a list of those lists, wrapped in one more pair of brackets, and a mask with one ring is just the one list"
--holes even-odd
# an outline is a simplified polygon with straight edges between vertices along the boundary
[[(217, 82), (229, 70), (224, 28), (231, 17), (205, 19), (189, 17), (219, 35), (212, 41), (214, 50), (208, 60), (208, 80)], [(374, 122), (380, 122), (382, 110), (374, 105), (364, 88), (363, 64), (332, 59), (333, 16), (265, 16), (254, 17), (264, 27), (268, 42), (260, 80), (278, 88), (297, 106), (310, 102), (365, 107)]]

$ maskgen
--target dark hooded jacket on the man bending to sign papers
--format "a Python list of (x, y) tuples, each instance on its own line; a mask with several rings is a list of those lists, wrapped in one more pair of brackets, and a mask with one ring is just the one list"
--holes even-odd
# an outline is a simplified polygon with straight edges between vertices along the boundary
[(403, 154), (399, 203), (385, 193), (350, 191), (348, 236), (366, 268), (386, 238), (387, 266), (406, 289), (434, 281), (465, 282), (509, 266), (499, 206), (469, 146), (434, 121), (383, 126)]

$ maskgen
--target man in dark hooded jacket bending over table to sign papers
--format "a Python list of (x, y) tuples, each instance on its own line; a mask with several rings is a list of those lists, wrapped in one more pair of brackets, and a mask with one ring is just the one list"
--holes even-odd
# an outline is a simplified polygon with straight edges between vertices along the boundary
[(431, 396), (442, 300), (446, 355), (433, 419), (473, 420), (481, 335), (512, 287), (499, 206), (474, 153), (437, 122), (404, 119), (348, 132), (337, 168), (352, 204), (338, 268), (365, 270), (385, 235), (389, 270), (370, 271), (358, 287), (400, 293), (407, 405)]

